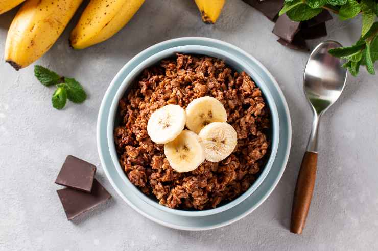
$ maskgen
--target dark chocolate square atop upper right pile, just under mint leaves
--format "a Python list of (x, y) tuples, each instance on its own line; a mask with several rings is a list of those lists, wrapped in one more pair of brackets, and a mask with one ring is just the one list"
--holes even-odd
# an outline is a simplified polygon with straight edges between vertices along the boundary
[(292, 21), (286, 14), (284, 14), (278, 17), (273, 28), (273, 33), (291, 43), (295, 34), (299, 31), (299, 25), (300, 22)]

